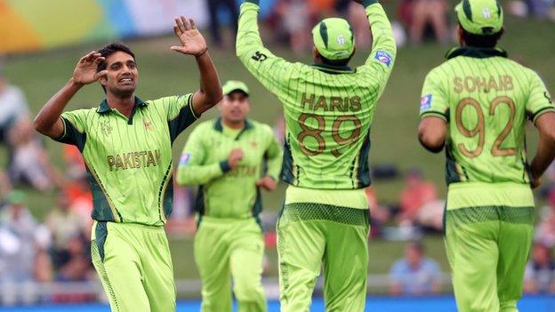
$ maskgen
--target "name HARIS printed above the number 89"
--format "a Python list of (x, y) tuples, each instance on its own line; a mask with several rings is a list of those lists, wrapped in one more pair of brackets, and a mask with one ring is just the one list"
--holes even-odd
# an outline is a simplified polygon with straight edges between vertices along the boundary
[(305, 109), (309, 107), (311, 110), (322, 109), (323, 111), (338, 111), (338, 112), (358, 112), (361, 108), (360, 97), (339, 97), (331, 96), (325, 97), (323, 95), (317, 96), (315, 94), (302, 93), (301, 107)]

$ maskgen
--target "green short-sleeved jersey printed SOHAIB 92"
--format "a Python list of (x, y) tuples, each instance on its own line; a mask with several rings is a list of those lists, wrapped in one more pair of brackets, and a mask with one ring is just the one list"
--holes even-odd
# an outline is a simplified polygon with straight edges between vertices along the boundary
[(503, 184), (511, 188), (507, 194), (513, 198), (522, 194), (527, 199), (521, 204), (530, 205), (526, 121), (535, 122), (543, 113), (555, 111), (542, 79), (507, 59), (501, 49), (462, 47), (448, 52), (446, 58), (426, 77), (420, 114), (449, 123), (446, 182), (450, 191), (464, 188), (482, 204), (491, 204), (495, 202), (492, 183)]

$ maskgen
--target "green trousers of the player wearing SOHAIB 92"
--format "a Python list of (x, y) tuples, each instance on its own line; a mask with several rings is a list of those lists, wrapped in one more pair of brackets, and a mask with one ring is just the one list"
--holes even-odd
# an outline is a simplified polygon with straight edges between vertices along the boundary
[(533, 220), (533, 207), (446, 211), (446, 252), (460, 312), (518, 311)]

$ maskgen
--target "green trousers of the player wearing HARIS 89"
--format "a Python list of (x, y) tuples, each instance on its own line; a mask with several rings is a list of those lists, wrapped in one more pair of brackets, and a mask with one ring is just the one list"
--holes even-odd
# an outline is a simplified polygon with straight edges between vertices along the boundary
[(309, 311), (323, 263), (326, 311), (363, 311), (368, 228), (367, 210), (286, 204), (277, 222), (281, 310)]

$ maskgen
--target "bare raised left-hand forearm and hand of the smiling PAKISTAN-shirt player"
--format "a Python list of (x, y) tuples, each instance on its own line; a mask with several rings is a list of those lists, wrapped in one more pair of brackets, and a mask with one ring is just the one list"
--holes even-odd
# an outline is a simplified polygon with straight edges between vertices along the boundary
[(79, 60), (68, 83), (61, 87), (60, 91), (56, 92), (36, 115), (33, 125), (37, 132), (41, 132), (52, 139), (60, 138), (64, 132), (64, 124), (60, 115), (68, 105), (69, 100), (84, 84), (92, 84), (108, 73), (108, 70), (96, 72), (97, 65), (102, 60), (104, 58), (101, 57), (101, 53), (95, 51), (88, 53)]

